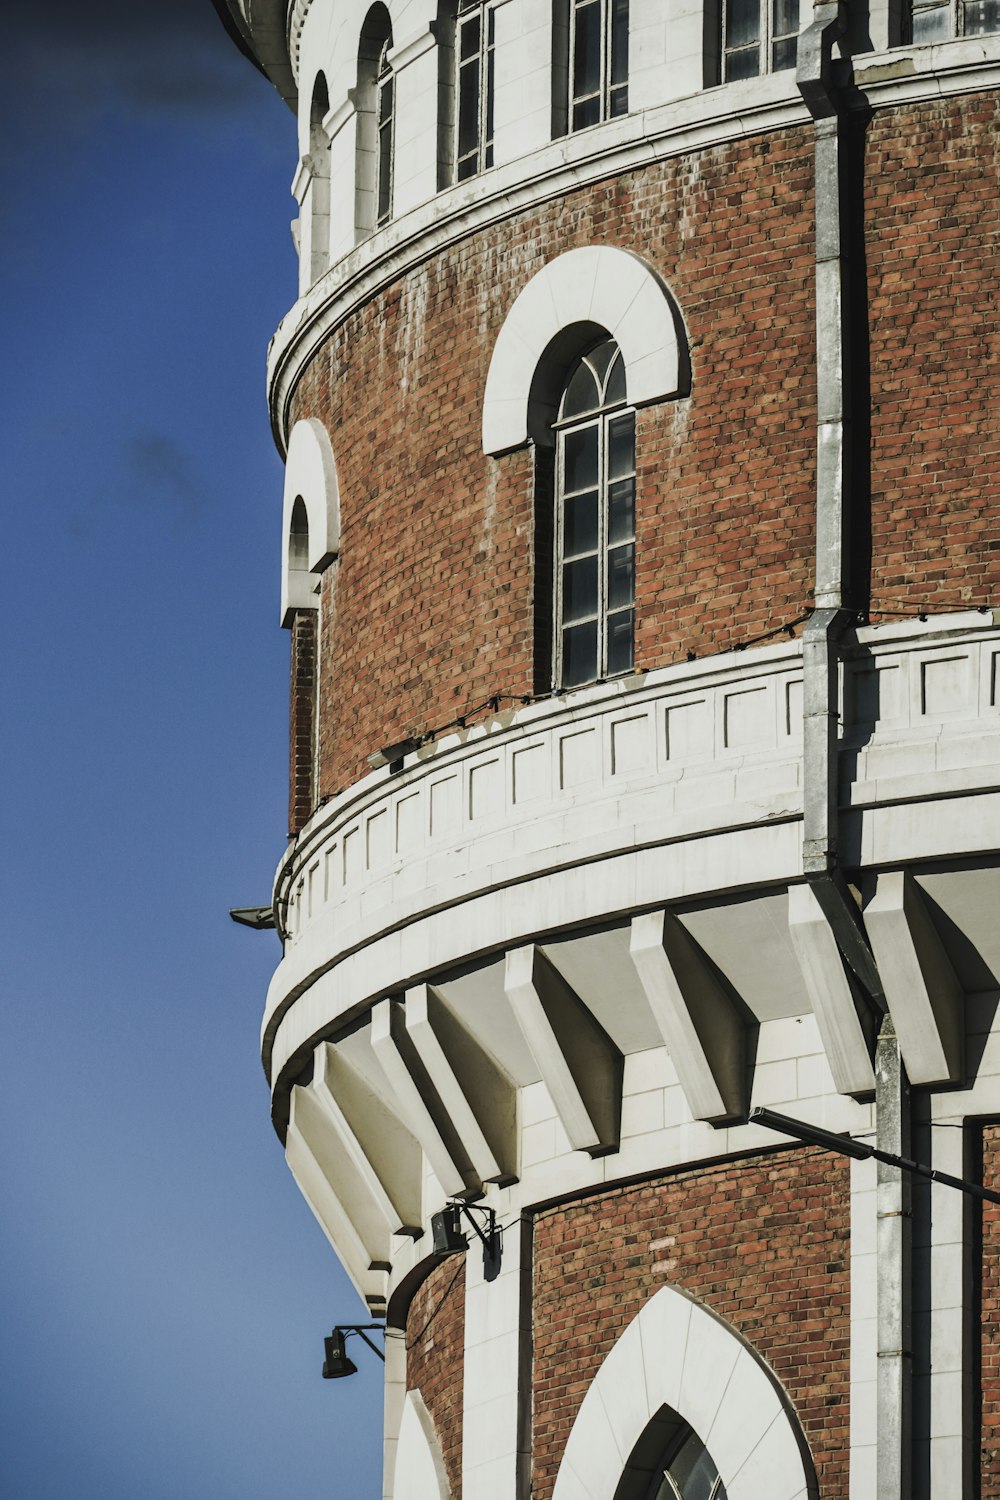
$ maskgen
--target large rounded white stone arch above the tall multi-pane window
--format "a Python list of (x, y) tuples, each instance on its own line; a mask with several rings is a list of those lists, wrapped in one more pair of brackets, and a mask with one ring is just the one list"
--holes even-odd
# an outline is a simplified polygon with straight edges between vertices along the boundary
[(684, 394), (684, 324), (657, 272), (607, 244), (567, 250), (532, 276), (499, 332), (483, 399), (486, 453), (552, 441), (568, 358), (589, 333), (610, 333), (622, 351), (630, 405)]

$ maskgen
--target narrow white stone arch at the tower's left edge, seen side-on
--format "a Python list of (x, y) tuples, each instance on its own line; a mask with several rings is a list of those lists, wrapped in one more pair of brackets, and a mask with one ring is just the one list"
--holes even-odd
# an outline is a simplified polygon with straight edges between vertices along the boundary
[[(301, 518), (306, 512), (306, 538)], [(294, 534), (295, 528), (295, 534)], [(340, 495), (330, 435), (322, 422), (297, 422), (288, 441), (285, 496), (282, 504), (282, 624), (291, 624), (297, 609), (318, 608), (319, 578), (340, 548)]]

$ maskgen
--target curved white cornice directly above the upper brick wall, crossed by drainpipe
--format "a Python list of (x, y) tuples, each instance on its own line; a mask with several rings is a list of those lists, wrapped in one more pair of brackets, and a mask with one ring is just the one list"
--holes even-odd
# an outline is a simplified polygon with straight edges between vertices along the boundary
[[(1000, 36), (868, 54), (855, 62), (855, 86), (853, 106), (873, 110), (996, 88)], [(709, 88), (552, 141), (396, 219), (333, 266), (279, 324), (267, 363), (279, 452), (286, 452), (295, 386), (322, 344), (358, 306), (432, 255), (577, 188), (808, 120), (792, 74)]]

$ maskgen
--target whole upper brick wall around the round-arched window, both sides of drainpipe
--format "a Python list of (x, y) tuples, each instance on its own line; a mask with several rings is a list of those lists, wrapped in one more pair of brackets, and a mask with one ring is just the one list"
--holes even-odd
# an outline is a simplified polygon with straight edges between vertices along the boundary
[[(876, 612), (990, 602), (997, 584), (996, 111), (972, 94), (880, 111), (868, 128)], [(292, 404), (294, 418), (327, 424), (340, 482), (318, 795), (388, 741), (492, 693), (547, 687), (532, 658), (549, 590), (534, 572), (532, 454), (484, 458), (481, 398), (517, 292), (558, 254), (601, 243), (666, 278), (691, 345), (691, 396), (639, 414), (637, 664), (745, 644), (811, 603), (802, 128), (652, 164), (469, 236), (319, 351)]]

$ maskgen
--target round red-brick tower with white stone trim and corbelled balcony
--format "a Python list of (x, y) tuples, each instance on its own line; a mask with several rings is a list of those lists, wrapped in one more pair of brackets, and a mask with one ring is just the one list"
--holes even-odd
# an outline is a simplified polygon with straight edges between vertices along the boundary
[[(996, 1500), (997, 0), (217, 0), (298, 120), (289, 1168), (387, 1500)], [(474, 1204), (499, 1264), (435, 1254)]]

